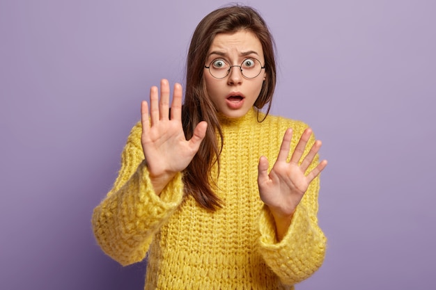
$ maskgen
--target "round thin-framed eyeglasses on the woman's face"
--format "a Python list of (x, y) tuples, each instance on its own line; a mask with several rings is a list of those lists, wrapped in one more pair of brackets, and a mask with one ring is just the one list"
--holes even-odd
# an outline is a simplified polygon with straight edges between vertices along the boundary
[(254, 79), (262, 72), (265, 65), (262, 66), (260, 61), (256, 58), (245, 58), (241, 65), (230, 65), (230, 63), (222, 58), (215, 58), (210, 62), (209, 66), (205, 66), (215, 79), (224, 79), (228, 76), (232, 67), (239, 67), (242, 76), (246, 79)]

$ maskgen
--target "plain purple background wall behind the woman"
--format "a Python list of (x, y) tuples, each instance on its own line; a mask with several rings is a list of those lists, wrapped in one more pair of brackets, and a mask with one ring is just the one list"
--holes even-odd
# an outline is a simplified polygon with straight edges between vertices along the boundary
[[(184, 79), (196, 24), (226, 1), (0, 1), (0, 289), (142, 289), (91, 232), (139, 105)], [(436, 3), (265, 1), (272, 113), (329, 160), (325, 264), (297, 289), (435, 289)]]

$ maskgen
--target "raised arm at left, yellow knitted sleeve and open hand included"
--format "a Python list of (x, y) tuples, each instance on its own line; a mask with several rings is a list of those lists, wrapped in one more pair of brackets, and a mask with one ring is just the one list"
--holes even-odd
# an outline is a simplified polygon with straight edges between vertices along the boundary
[[(186, 140), (181, 124), (182, 87), (174, 86), (169, 117), (169, 84), (150, 90), (141, 104), (141, 123), (132, 129), (121, 157), (114, 187), (95, 207), (93, 230), (102, 250), (127, 265), (141, 261), (153, 234), (177, 209), (183, 197), (181, 171), (198, 150), (206, 123), (198, 124)], [(145, 156), (145, 159), (144, 159)]]

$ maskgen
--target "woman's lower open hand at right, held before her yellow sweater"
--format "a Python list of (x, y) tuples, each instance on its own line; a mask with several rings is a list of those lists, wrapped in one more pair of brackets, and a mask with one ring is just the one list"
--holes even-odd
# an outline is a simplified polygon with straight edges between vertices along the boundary
[(260, 199), (270, 208), (276, 222), (277, 238), (281, 240), (286, 234), (297, 205), (306, 193), (309, 184), (327, 166), (327, 160), (318, 163), (316, 168), (307, 172), (316, 154), (320, 150), (321, 141), (313, 143), (309, 153), (299, 164), (304, 154), (307, 142), (311, 137), (310, 128), (304, 130), (290, 161), (288, 154), (293, 130), (287, 129), (281, 143), (279, 156), (268, 174), (268, 160), (261, 156), (258, 164), (258, 187)]

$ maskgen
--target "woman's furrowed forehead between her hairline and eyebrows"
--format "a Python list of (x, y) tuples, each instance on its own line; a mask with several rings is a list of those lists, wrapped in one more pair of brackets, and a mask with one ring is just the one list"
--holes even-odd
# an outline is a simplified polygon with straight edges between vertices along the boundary
[(213, 51), (225, 54), (241, 54), (245, 51), (255, 51), (259, 56), (263, 55), (260, 40), (254, 33), (244, 29), (235, 33), (219, 33), (215, 35), (209, 48), (209, 54)]

